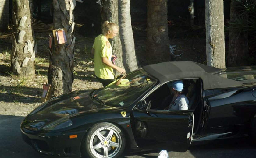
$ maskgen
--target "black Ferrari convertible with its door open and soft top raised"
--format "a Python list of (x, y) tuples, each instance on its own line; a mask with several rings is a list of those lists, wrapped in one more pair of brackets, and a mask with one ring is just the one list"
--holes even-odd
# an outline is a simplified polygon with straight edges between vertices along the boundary
[[(147, 65), (98, 90), (52, 98), (27, 115), (23, 139), (49, 156), (119, 157), (152, 145), (256, 138), (256, 68), (191, 62)], [(182, 81), (187, 110), (170, 105), (169, 83)], [(172, 99), (171, 99), (172, 100)]]

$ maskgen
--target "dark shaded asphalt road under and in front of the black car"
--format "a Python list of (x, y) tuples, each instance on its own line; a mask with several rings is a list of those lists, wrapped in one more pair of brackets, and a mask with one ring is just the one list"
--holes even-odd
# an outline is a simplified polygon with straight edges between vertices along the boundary
[[(24, 117), (0, 115), (0, 158), (46, 158), (23, 142), (20, 122)], [(123, 158), (157, 158), (157, 150), (131, 153)], [(192, 145), (186, 152), (169, 151), (173, 158), (255, 158), (256, 145), (247, 139)]]

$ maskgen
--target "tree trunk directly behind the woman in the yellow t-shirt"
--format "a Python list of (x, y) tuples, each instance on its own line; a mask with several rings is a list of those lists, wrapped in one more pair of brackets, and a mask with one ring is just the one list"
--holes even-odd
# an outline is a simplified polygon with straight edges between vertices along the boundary
[[(117, 25), (118, 22), (118, 2), (116, 0), (101, 0), (101, 20), (102, 22), (108, 20), (109, 22), (114, 22)], [(113, 55), (117, 56), (117, 60), (115, 61), (116, 66), (119, 68), (123, 67), (123, 51), (122, 51), (122, 45), (120, 40), (120, 33), (117, 34), (116, 37), (113, 39), (108, 39), (111, 42)], [(114, 75), (118, 76), (121, 73), (118, 71), (114, 71)]]

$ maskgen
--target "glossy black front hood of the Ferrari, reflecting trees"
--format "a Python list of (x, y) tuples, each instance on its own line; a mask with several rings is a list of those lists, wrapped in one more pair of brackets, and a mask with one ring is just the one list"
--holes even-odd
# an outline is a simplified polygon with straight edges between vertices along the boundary
[(94, 102), (90, 98), (92, 90), (75, 91), (47, 101), (32, 111), (27, 121), (35, 127), (44, 127), (49, 123), (75, 115), (118, 109)]

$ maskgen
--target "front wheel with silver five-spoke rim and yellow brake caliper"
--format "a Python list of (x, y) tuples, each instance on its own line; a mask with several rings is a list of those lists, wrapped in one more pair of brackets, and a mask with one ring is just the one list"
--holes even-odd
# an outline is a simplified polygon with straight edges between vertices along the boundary
[(116, 158), (125, 148), (125, 136), (120, 128), (108, 122), (91, 127), (83, 143), (83, 156), (91, 158)]

